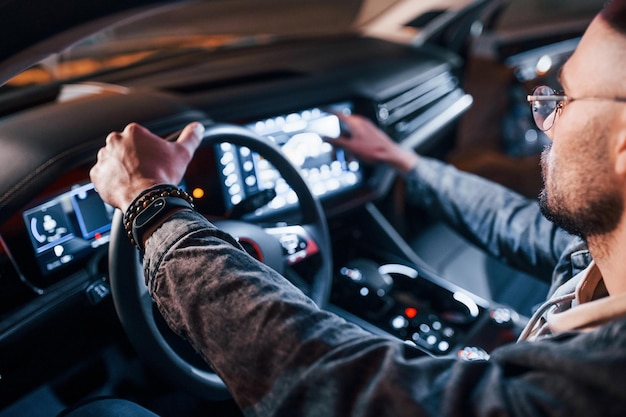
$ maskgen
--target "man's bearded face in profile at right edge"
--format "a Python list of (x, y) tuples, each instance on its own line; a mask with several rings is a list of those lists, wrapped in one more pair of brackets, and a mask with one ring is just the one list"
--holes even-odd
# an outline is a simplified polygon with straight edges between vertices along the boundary
[[(596, 18), (564, 65), (561, 83), (573, 98), (615, 97), (624, 93), (624, 39)], [(617, 49), (620, 51), (620, 49)], [(618, 55), (618, 56), (615, 56)], [(547, 132), (552, 145), (542, 154), (543, 214), (584, 238), (615, 230), (623, 210), (623, 182), (615, 171), (616, 132), (623, 128), (624, 103), (575, 100)]]

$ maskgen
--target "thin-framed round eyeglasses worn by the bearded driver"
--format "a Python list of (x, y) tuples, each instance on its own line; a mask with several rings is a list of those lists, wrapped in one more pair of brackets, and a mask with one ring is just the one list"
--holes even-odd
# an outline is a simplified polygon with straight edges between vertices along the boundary
[(555, 91), (552, 88), (540, 85), (535, 87), (532, 95), (526, 97), (530, 103), (530, 111), (537, 127), (542, 132), (552, 129), (554, 120), (566, 104), (575, 100), (604, 100), (626, 102), (626, 97), (568, 97), (562, 91)]

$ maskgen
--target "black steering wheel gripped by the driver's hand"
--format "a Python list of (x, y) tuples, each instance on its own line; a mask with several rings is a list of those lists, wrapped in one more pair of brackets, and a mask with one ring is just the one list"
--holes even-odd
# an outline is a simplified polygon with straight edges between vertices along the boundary
[[(274, 165), (298, 196), (301, 220), (297, 225), (273, 228), (231, 220), (215, 222), (215, 225), (240, 242), (250, 243), (263, 262), (281, 273), (288, 265), (319, 253), (321, 261), (316, 264), (310, 285), (303, 288), (298, 282), (294, 283), (323, 308), (330, 293), (332, 254), (328, 225), (319, 200), (299, 170), (274, 143), (240, 126), (206, 127), (201, 146), (224, 142), (247, 147)], [(184, 390), (208, 400), (229, 398), (230, 393), (221, 378), (189, 343), (165, 324), (148, 293), (139, 251), (130, 243), (122, 217), (123, 213), (116, 210), (109, 244), (109, 279), (115, 309), (131, 343), (146, 363)], [(293, 251), (294, 239), (299, 242), (296, 252)]]

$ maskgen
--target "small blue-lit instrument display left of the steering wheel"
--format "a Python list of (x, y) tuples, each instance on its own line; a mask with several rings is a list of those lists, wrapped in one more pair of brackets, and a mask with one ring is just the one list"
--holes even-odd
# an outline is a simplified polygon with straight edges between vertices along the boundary
[(92, 184), (80, 185), (24, 211), (35, 259), (46, 275), (109, 241), (113, 208)]

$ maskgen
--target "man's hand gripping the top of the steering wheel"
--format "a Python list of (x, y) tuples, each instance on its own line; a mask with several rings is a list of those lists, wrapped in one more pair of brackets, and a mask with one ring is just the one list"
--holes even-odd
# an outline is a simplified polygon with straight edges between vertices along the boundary
[(126, 211), (140, 192), (156, 184), (177, 185), (202, 141), (204, 126), (188, 124), (175, 142), (168, 142), (136, 123), (112, 132), (89, 176), (100, 197)]

